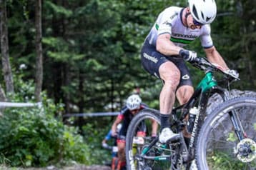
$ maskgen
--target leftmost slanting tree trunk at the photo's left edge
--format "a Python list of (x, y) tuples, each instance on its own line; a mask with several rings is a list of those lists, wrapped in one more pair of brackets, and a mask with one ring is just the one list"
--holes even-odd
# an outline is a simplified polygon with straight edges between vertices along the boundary
[(9, 61), (9, 42), (6, 17), (6, 1), (0, 0), (0, 36), (1, 36), (1, 61), (3, 66), (6, 93), (14, 94), (14, 81), (12, 79), (11, 64)]

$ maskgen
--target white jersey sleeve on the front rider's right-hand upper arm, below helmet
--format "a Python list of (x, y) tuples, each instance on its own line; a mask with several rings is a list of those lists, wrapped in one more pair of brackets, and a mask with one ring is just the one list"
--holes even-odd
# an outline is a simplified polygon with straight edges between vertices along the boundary
[(205, 49), (208, 49), (213, 46), (212, 37), (210, 34), (210, 25), (205, 25), (202, 29), (202, 35), (200, 36), (202, 47), (204, 47)]

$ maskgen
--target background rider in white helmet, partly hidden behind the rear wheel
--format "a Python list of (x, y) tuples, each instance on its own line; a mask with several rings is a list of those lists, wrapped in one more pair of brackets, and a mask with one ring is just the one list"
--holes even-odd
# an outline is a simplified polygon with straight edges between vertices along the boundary
[[(120, 114), (117, 116), (117, 119), (114, 121), (112, 125), (112, 136), (117, 136), (117, 124), (122, 122), (122, 128), (119, 131), (117, 136), (117, 146), (118, 146), (118, 158), (119, 158), (119, 167), (124, 167), (126, 164), (125, 161), (125, 138), (127, 134), (127, 129), (130, 121), (135, 114), (139, 111), (148, 108), (148, 106), (142, 103), (142, 99), (138, 94), (132, 94), (128, 97), (126, 101), (126, 105), (120, 111)], [(145, 136), (146, 129), (143, 125), (140, 126), (139, 131), (137, 131), (137, 136)], [(157, 131), (154, 131), (154, 127), (152, 126), (152, 136), (155, 136)]]

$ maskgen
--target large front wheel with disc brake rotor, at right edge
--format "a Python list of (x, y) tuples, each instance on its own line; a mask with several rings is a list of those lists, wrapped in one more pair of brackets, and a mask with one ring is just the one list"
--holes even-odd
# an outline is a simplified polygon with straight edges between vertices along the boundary
[(225, 101), (207, 116), (200, 130), (197, 167), (200, 170), (255, 169), (255, 141), (256, 98), (242, 96)]

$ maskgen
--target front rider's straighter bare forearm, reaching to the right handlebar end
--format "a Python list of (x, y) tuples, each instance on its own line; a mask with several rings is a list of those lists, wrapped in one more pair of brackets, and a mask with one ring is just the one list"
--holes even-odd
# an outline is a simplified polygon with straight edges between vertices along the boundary
[(223, 71), (229, 69), (224, 59), (222, 58), (222, 56), (220, 56), (219, 52), (215, 48), (215, 46), (205, 49), (205, 54), (207, 56), (207, 59), (211, 63), (221, 66)]

